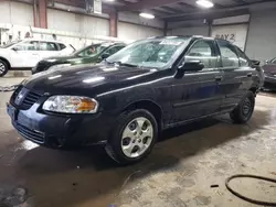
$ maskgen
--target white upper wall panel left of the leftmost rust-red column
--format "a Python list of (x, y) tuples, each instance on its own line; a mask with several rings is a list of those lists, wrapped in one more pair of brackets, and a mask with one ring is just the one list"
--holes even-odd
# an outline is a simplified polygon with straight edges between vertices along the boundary
[(0, 23), (33, 26), (33, 8), (31, 4), (1, 1), (0, 11)]

